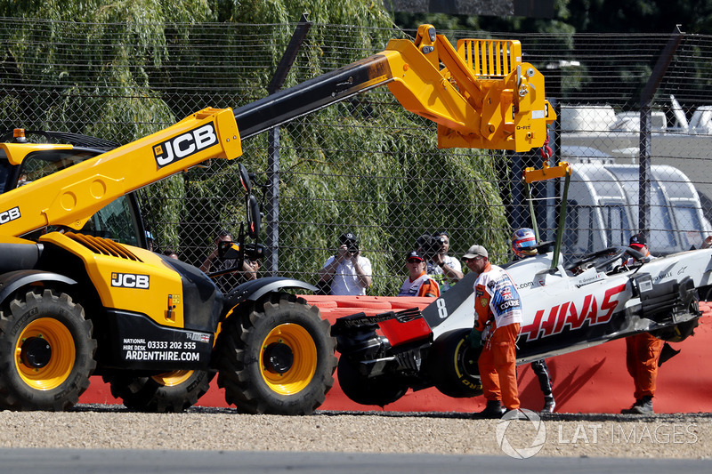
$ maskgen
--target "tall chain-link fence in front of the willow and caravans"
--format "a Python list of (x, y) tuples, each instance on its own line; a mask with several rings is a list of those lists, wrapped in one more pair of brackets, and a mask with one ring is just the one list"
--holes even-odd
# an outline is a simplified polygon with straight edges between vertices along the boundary
[[(4, 19), (0, 128), (126, 143), (201, 108), (244, 106), (267, 95), (296, 26), (137, 30)], [(627, 244), (641, 215), (652, 253), (699, 245), (712, 230), (705, 174), (712, 107), (704, 93), (712, 36), (440, 33), (453, 44), (518, 39), (524, 60), (544, 73), (561, 119), (551, 132), (552, 159), (574, 164), (565, 257)], [(312, 25), (284, 87), (413, 34)], [(316, 283), (338, 236), (350, 230), (373, 265), (368, 293), (384, 295), (398, 292), (405, 254), (425, 232), (447, 231), (452, 255), (477, 243), (489, 248), (490, 260), (508, 260), (512, 231), (530, 226), (522, 169), (543, 161), (538, 151), (437, 149), (435, 126), (403, 110), (385, 88), (249, 138), (243, 149), (237, 161), (255, 173), (255, 191), (265, 197), (262, 274)], [(554, 238), (560, 191), (553, 184), (534, 189), (542, 238)], [(152, 184), (140, 197), (158, 246), (198, 266), (221, 229), (237, 236), (245, 220), (238, 167), (224, 160)]]

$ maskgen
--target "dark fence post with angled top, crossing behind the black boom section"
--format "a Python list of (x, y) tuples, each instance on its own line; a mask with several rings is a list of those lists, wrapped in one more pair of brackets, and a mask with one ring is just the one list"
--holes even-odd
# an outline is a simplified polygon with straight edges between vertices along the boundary
[[(292, 39), (287, 44), (287, 51), (284, 52), (282, 59), (279, 60), (277, 70), (272, 76), (270, 85), (267, 87), (267, 92), (270, 94), (279, 91), (282, 84), (284, 84), (287, 73), (292, 68), (296, 53), (299, 52), (309, 28), (312, 28), (312, 22), (307, 20), (306, 14), (302, 14)], [(267, 155), (268, 199), (266, 203), (267, 209), (265, 209), (267, 214), (265, 260), (269, 261), (266, 269), (272, 277), (276, 277), (279, 272), (279, 126), (274, 127), (268, 133)]]

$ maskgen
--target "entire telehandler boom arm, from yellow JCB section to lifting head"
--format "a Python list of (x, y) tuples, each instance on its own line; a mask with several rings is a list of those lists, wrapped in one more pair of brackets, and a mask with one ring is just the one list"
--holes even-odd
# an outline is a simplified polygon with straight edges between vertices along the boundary
[[(441, 65), (444, 66), (441, 68)], [(464, 39), (457, 50), (422, 25), (415, 41), (234, 110), (205, 108), (179, 123), (0, 196), (0, 235), (47, 225), (81, 229), (117, 197), (211, 158), (242, 154), (241, 140), (382, 84), (403, 108), (438, 125), (440, 148), (527, 151), (554, 121), (544, 77), (522, 63), (516, 41)], [(29, 152), (0, 144), (13, 164)]]

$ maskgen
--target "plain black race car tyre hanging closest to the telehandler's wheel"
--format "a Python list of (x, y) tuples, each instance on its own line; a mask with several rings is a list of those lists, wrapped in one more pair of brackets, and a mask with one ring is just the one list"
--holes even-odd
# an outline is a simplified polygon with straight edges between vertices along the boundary
[(405, 382), (394, 379), (391, 375), (378, 375), (368, 378), (359, 373), (358, 363), (350, 358), (339, 358), (339, 386), (344, 395), (360, 405), (384, 407), (401, 398), (409, 389)]

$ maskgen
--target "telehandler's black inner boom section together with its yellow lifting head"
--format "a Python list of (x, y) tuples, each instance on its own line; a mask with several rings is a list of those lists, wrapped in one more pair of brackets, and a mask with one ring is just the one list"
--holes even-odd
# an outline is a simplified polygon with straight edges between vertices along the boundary
[(522, 64), (518, 41), (462, 39), (456, 50), (421, 25), (413, 42), (393, 39), (383, 52), (236, 109), (240, 136), (383, 84), (403, 108), (438, 124), (440, 148), (529, 151), (544, 144), (556, 119), (544, 77)]

